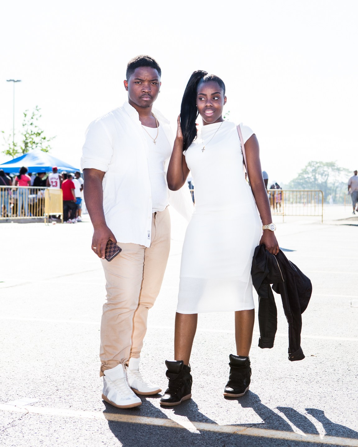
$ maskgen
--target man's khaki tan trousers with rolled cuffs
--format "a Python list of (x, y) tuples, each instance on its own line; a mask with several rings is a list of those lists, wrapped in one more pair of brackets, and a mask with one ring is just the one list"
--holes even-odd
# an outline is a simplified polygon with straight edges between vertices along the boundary
[(150, 247), (117, 242), (122, 251), (102, 260), (107, 302), (101, 322), (101, 372), (139, 358), (147, 331), (148, 310), (162, 286), (170, 249), (170, 215), (153, 213)]

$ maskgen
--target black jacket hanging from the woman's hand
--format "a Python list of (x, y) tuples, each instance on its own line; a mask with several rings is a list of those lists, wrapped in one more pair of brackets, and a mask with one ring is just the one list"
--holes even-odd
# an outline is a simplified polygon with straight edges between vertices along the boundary
[(301, 348), (301, 314), (312, 294), (309, 278), (289, 261), (280, 250), (275, 256), (264, 245), (255, 249), (251, 266), (252, 283), (259, 295), (260, 348), (272, 348), (277, 331), (277, 308), (270, 284), (281, 295), (288, 321), (288, 358), (292, 362), (305, 358)]

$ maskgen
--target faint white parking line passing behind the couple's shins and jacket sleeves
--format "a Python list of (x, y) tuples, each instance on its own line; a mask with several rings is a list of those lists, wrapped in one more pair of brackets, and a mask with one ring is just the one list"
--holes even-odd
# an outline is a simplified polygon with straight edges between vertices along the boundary
[[(28, 318), (22, 316), (0, 316), (0, 320), (15, 320), (15, 321), (43, 321), (47, 323), (71, 323), (76, 325), (100, 325), (99, 321), (86, 321), (86, 320), (65, 320), (59, 319), (55, 320), (53, 318)], [(156, 325), (148, 325), (148, 329), (159, 329), (159, 330), (170, 330), (174, 331), (174, 326), (156, 326)], [(209, 332), (209, 333), (235, 333), (234, 329), (207, 329), (207, 328), (197, 328), (197, 332)], [(254, 335), (260, 335), (259, 332), (254, 332)], [(276, 337), (288, 337), (286, 333), (281, 334), (277, 333)], [(358, 338), (356, 337), (330, 337), (323, 335), (305, 335), (301, 334), (301, 338), (313, 338), (317, 340), (337, 340), (339, 342), (358, 342)]]

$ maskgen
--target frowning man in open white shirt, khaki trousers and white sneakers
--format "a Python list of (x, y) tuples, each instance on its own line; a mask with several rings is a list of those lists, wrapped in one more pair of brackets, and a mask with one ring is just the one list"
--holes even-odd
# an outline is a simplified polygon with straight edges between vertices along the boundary
[[(85, 202), (94, 226), (92, 249), (102, 260), (107, 281), (102, 398), (118, 408), (141, 405), (136, 394), (161, 391), (143, 380), (140, 353), (148, 310), (158, 296), (169, 255), (169, 200), (181, 203), (187, 217), (193, 208), (188, 187), (169, 198), (164, 164), (173, 138), (169, 122), (152, 110), (160, 76), (158, 63), (149, 56), (129, 61), (124, 81), (128, 102), (90, 124), (81, 159)], [(110, 262), (104, 258), (108, 240), (122, 249)]]

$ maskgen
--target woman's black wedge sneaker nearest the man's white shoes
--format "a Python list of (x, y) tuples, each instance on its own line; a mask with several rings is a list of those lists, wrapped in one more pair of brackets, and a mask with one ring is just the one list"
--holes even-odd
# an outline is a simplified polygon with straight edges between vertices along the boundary
[(169, 379), (168, 388), (160, 400), (160, 405), (168, 407), (179, 405), (192, 397), (192, 375), (190, 366), (184, 365), (183, 360), (165, 361), (166, 377)]

